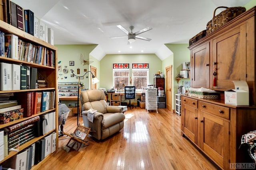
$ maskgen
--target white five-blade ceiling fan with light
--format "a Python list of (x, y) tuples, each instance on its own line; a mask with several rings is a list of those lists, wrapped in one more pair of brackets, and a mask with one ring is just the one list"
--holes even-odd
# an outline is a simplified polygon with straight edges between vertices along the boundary
[(127, 29), (125, 29), (122, 25), (116, 25), (118, 28), (120, 28), (122, 31), (124, 31), (127, 35), (124, 36), (118, 36), (118, 37), (110, 37), (110, 38), (123, 38), (123, 37), (127, 37), (128, 36), (128, 44), (133, 43), (135, 41), (135, 38), (138, 39), (143, 39), (146, 41), (150, 41), (150, 38), (146, 38), (146, 37), (141, 37), (138, 36), (141, 33), (144, 33), (146, 31), (149, 31), (150, 29), (152, 29), (152, 27), (146, 27), (144, 29), (141, 29), (140, 31), (137, 31), (136, 33), (133, 33), (132, 30), (134, 29), (134, 26), (130, 26), (130, 30), (131, 32), (127, 31)]

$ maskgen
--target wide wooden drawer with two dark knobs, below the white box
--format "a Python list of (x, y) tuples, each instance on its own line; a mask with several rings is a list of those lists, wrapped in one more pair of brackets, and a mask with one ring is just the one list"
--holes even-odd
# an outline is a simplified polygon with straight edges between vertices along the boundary
[(199, 102), (200, 110), (229, 119), (229, 108), (218, 106), (216, 104), (210, 104), (206, 102)]

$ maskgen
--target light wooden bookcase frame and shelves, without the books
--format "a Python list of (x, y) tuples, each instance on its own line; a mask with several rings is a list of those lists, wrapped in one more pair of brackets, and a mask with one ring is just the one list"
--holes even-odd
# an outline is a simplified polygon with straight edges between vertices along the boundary
[[(2, 63), (12, 63), (12, 64), (20, 64), (20, 65), (24, 65), (24, 66), (30, 66), (30, 67), (34, 67), (37, 68), (37, 72), (40, 74), (40, 76), (43, 76), (47, 83), (46, 88), (39, 88), (39, 89), (27, 89), (27, 90), (6, 90), (6, 91), (0, 91), (0, 94), (5, 94), (5, 93), (19, 93), (19, 95), (22, 95), (22, 93), (20, 92), (42, 92), (42, 91), (55, 91), (55, 101), (54, 101), (54, 106), (58, 106), (58, 86), (57, 86), (57, 68), (56, 68), (56, 64), (57, 64), (57, 48), (54, 47), (53, 45), (50, 45), (49, 43), (46, 43), (44, 41), (42, 41), (41, 39), (38, 39), (4, 21), (0, 20), (0, 31), (4, 32), (5, 34), (14, 34), (17, 35), (19, 39), (21, 39), (22, 41), (25, 42), (29, 42), (32, 43), (33, 45), (36, 46), (42, 46), (42, 47), (46, 47), (47, 49), (51, 50), (54, 52), (54, 65), (55, 66), (45, 66), (42, 64), (35, 64), (35, 63), (30, 63), (27, 61), (20, 61), (20, 60), (16, 60), (16, 59), (10, 59), (10, 58), (6, 58), (6, 57), (0, 57), (0, 62)], [(24, 100), (27, 100), (27, 96), (23, 96)], [(42, 115), (44, 113), (48, 113), (48, 112), (52, 112), (55, 111), (56, 112), (56, 117), (55, 117), (55, 129), (51, 132), (56, 132), (58, 134), (58, 107), (54, 108), (54, 109), (49, 109), (47, 111), (44, 112), (40, 112), (40, 113), (36, 113), (30, 117), (24, 117), (15, 121), (11, 121), (9, 123), (6, 124), (2, 124), (0, 125), (0, 129), (3, 129), (4, 127), (8, 127), (10, 125), (14, 125), (16, 123), (28, 120), (32, 117), (36, 117), (38, 115)], [(46, 135), (48, 135), (49, 133), (47, 133)], [(28, 146), (32, 145), (33, 143), (35, 143), (36, 141), (39, 141), (40, 139), (46, 137), (46, 135), (40, 136), (40, 137), (35, 137), (34, 139), (24, 143), (23, 145), (19, 146), (19, 150), (23, 150), (25, 148), (27, 148)], [(56, 151), (58, 150), (58, 136), (56, 138)], [(56, 152), (55, 151), (55, 152)], [(4, 160), (0, 161), (0, 164), (2, 164), (4, 161), (12, 158), (13, 156), (15, 156), (17, 154), (17, 152), (15, 151), (10, 151), (9, 154), (7, 156), (4, 157)], [(50, 158), (52, 154), (50, 154), (49, 156), (47, 156), (46, 158), (44, 158), (44, 160), (42, 160), (40, 163), (38, 163), (37, 165), (34, 165), (32, 168), (33, 169), (38, 169), (42, 163), (46, 162), (46, 160), (48, 160)]]

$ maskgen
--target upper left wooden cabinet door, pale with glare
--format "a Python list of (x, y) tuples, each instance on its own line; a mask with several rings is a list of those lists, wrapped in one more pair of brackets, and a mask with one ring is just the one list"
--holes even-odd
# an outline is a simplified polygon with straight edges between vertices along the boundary
[(210, 42), (192, 49), (190, 58), (190, 82), (192, 87), (210, 88)]

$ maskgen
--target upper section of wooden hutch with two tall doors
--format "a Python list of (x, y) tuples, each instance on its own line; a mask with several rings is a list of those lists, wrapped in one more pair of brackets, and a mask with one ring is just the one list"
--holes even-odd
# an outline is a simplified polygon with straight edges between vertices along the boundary
[(250, 105), (256, 105), (255, 10), (251, 8), (188, 47), (191, 87), (229, 90), (234, 89), (232, 81), (245, 80)]

